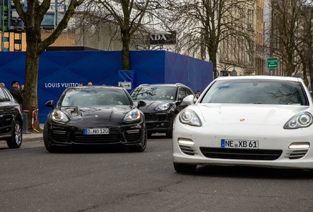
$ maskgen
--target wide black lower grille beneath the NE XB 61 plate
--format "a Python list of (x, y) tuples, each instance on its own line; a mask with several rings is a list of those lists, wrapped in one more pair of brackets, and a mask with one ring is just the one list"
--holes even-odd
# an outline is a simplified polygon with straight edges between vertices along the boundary
[(207, 158), (216, 159), (249, 159), (276, 160), (282, 155), (282, 150), (254, 150), (254, 149), (225, 149), (200, 147)]

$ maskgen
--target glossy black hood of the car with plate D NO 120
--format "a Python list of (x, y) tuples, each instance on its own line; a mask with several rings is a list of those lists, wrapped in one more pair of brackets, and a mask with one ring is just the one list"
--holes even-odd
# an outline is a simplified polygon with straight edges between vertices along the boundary
[(85, 125), (97, 123), (123, 123), (122, 118), (131, 106), (124, 107), (61, 107), (72, 122), (83, 121)]

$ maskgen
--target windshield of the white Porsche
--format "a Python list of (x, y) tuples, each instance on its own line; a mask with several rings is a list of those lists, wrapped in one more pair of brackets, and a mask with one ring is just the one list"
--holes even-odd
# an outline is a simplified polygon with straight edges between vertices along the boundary
[(270, 79), (217, 80), (201, 103), (308, 105), (300, 82)]

